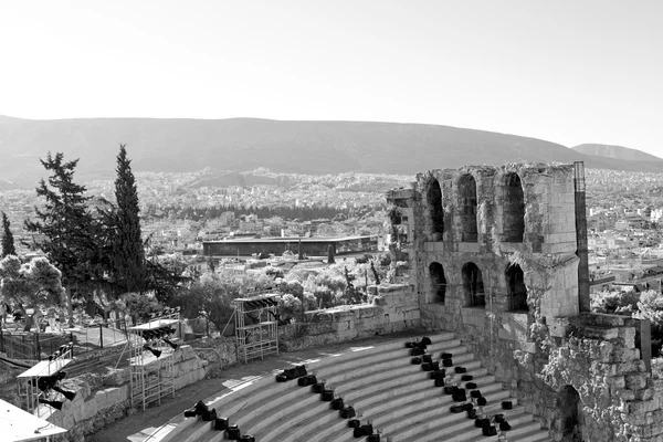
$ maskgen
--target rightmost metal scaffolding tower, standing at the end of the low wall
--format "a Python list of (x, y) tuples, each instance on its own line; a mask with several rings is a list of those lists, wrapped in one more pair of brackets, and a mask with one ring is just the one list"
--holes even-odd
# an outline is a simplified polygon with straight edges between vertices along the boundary
[(238, 360), (278, 355), (277, 294), (260, 294), (233, 301)]

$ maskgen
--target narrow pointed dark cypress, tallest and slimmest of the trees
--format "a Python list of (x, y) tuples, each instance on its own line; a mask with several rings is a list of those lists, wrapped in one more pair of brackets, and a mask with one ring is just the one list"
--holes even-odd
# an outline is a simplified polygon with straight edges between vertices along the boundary
[(146, 288), (146, 263), (140, 234), (140, 208), (138, 189), (131, 171), (131, 160), (125, 145), (119, 145), (115, 179), (115, 231), (113, 243), (113, 271), (115, 284), (125, 292), (143, 292)]

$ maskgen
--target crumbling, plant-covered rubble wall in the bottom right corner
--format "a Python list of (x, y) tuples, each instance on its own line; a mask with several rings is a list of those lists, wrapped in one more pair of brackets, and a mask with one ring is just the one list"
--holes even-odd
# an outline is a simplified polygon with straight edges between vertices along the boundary
[[(587, 441), (663, 440), (663, 380), (648, 370), (636, 348), (636, 328), (627, 325), (632, 322), (588, 314), (550, 327), (549, 358), (539, 378), (554, 392), (577, 391), (579, 427)], [(551, 398), (556, 401), (537, 401), (537, 414), (559, 435), (561, 398)]]

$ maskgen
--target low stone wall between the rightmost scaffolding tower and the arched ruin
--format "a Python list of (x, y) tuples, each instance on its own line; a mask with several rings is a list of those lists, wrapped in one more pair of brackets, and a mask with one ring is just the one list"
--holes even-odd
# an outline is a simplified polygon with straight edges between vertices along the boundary
[(368, 287), (370, 304), (306, 312), (304, 322), (278, 328), (278, 345), (294, 351), (421, 326), (419, 302), (411, 285)]

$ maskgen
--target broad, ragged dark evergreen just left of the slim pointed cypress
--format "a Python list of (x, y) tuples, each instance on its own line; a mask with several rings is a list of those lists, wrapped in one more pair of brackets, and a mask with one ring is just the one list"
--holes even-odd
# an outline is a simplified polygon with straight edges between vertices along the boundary
[(25, 230), (43, 236), (38, 245), (62, 272), (71, 324), (72, 290), (99, 273), (96, 264), (101, 253), (93, 230), (96, 224), (87, 209), (90, 197), (85, 187), (74, 182), (78, 160), (65, 161), (62, 152), (54, 157), (49, 152), (40, 161), (52, 175), (48, 185), (41, 179), (36, 187), (36, 196), (44, 199), (44, 206), (34, 208), (36, 220), (25, 220)]

